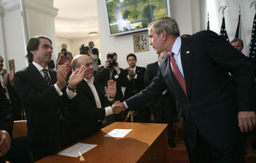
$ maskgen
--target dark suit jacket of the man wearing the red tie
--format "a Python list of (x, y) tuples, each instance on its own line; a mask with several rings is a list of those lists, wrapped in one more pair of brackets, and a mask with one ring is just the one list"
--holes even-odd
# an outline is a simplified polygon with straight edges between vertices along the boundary
[[(171, 71), (170, 55), (167, 55), (153, 83), (128, 99), (128, 107), (143, 105), (169, 88), (187, 106), (199, 132), (212, 147), (231, 147), (239, 138), (238, 111), (255, 110), (250, 59), (212, 31), (181, 38), (180, 55), (187, 97)], [(227, 72), (232, 73), (236, 90)]]

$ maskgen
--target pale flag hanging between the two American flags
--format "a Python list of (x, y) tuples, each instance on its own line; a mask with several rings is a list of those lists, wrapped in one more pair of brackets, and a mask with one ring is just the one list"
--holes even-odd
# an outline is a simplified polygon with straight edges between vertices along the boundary
[(246, 36), (245, 36), (245, 31), (244, 31), (244, 26), (243, 26), (241, 15), (239, 15), (239, 18), (238, 18), (237, 31), (236, 31), (235, 38), (243, 40), (244, 49), (242, 50), (242, 53), (246, 56), (249, 56), (248, 50), (247, 50), (247, 44), (246, 44)]

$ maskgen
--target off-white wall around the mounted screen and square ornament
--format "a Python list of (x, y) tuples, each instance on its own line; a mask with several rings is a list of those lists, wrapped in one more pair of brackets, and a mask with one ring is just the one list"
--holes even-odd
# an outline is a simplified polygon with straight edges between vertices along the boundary
[[(196, 17), (199, 14), (199, 2), (193, 1), (193, 9), (197, 8), (197, 12), (191, 11), (190, 0), (170, 0), (171, 17), (174, 18), (179, 24), (181, 34), (192, 34), (192, 31), (199, 31), (200, 25), (192, 26), (192, 23), (200, 23), (200, 17)], [(105, 3), (102, 0), (97, 0), (98, 10), (98, 26), (99, 26), (99, 41), (100, 51), (102, 54), (107, 54), (109, 51), (117, 53), (117, 59), (120, 67), (128, 67), (126, 56), (127, 54), (134, 53), (133, 50), (133, 34), (121, 35), (121, 36), (108, 36), (107, 28), (107, 15), (105, 12)], [(192, 14), (191, 14), (192, 13)], [(193, 19), (192, 19), (193, 17)], [(193, 30), (192, 30), (193, 29)], [(148, 31), (144, 31), (148, 32)], [(140, 32), (140, 33), (144, 33)], [(137, 65), (146, 67), (147, 64), (155, 62), (157, 60), (157, 54), (155, 50), (150, 46), (148, 52), (134, 53), (137, 56)], [(102, 60), (105, 60), (106, 56), (102, 55)]]

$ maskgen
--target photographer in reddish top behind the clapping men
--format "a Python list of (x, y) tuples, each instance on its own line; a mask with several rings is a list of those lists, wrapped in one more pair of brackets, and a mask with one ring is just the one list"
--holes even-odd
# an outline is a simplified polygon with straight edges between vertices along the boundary
[(72, 62), (72, 57), (68, 56), (67, 50), (63, 48), (61, 50), (60, 57), (57, 60), (57, 64), (63, 63), (67, 65), (67, 72), (68, 72), (67, 79), (69, 79), (70, 75), (72, 74), (71, 62)]

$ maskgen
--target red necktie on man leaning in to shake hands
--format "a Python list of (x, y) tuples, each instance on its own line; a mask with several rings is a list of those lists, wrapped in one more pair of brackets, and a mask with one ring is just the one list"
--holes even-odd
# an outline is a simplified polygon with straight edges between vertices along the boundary
[(173, 72), (173, 75), (175, 76), (176, 80), (178, 81), (178, 84), (180, 85), (181, 89), (183, 90), (183, 92), (187, 96), (185, 80), (184, 80), (183, 76), (181, 75), (181, 73), (178, 70), (178, 67), (177, 67), (177, 65), (175, 63), (175, 59), (173, 57), (173, 53), (172, 52), (171, 52), (170, 56), (171, 56), (170, 57), (170, 60), (171, 60), (171, 70)]

